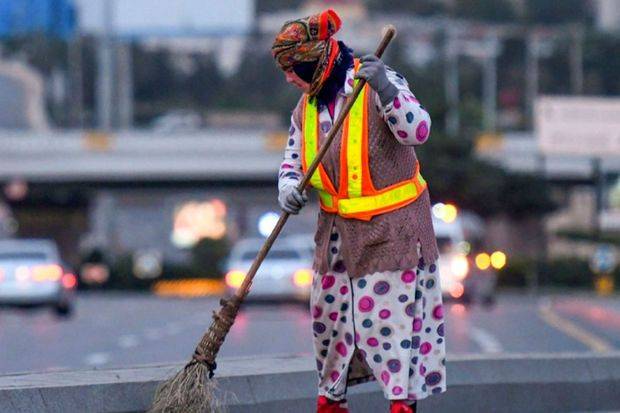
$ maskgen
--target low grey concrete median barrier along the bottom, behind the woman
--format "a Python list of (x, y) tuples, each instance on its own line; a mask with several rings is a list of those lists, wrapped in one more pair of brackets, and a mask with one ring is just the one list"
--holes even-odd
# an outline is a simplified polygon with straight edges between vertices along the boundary
[[(223, 358), (218, 397), (228, 411), (313, 412), (309, 356)], [(0, 376), (0, 412), (142, 412), (158, 383), (181, 366)], [(448, 391), (420, 412), (583, 412), (620, 410), (620, 352), (448, 357)], [(351, 387), (352, 412), (387, 411), (374, 382)]]

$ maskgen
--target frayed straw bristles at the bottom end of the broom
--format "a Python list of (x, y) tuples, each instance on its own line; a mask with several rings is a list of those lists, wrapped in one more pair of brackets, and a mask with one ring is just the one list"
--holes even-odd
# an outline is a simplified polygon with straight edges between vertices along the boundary
[(155, 392), (150, 413), (223, 413), (224, 406), (214, 395), (215, 380), (209, 369), (192, 363), (163, 382)]

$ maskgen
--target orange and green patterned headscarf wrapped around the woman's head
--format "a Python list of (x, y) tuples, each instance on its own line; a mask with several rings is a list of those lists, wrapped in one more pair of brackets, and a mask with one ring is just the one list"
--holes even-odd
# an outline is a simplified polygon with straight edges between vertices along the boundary
[(329, 77), (338, 56), (338, 42), (332, 36), (342, 22), (332, 9), (284, 23), (271, 47), (280, 69), (287, 71), (301, 62), (317, 61), (310, 82), (310, 96), (316, 95)]

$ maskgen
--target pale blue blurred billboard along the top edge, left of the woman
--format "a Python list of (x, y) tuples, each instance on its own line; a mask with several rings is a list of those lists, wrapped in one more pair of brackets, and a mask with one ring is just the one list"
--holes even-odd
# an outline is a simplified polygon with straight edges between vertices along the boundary
[(83, 32), (102, 32), (110, 15), (113, 32), (127, 37), (245, 34), (255, 21), (255, 0), (76, 0), (76, 4)]

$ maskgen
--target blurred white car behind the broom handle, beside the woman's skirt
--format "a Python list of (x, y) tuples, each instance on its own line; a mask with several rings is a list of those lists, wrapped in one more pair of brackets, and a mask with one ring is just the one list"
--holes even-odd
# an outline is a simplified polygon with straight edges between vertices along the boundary
[[(233, 247), (225, 278), (228, 293), (233, 294), (241, 286), (264, 242), (263, 238), (244, 239)], [(277, 240), (256, 273), (248, 298), (308, 301), (313, 248), (310, 236)]]

